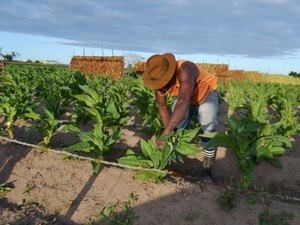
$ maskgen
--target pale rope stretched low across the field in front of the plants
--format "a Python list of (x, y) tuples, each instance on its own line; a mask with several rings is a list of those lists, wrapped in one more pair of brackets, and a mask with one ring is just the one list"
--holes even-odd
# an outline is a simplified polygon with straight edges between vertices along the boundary
[(94, 158), (91, 158), (91, 157), (80, 156), (80, 155), (72, 154), (70, 152), (66, 152), (64, 150), (46, 148), (46, 147), (33, 145), (33, 144), (25, 143), (25, 142), (22, 142), (22, 141), (6, 138), (6, 137), (2, 137), (2, 136), (0, 136), (0, 139), (5, 140), (5, 141), (10, 142), (10, 143), (15, 143), (15, 144), (19, 144), (19, 145), (23, 145), (23, 146), (27, 146), (27, 147), (31, 147), (31, 148), (37, 148), (37, 149), (41, 149), (41, 150), (47, 150), (47, 151), (50, 151), (50, 152), (54, 152), (56, 154), (60, 154), (60, 155), (64, 154), (64, 155), (75, 157), (75, 158), (78, 158), (78, 159), (93, 161), (93, 162), (102, 163), (102, 164), (105, 164), (105, 165), (122, 167), (122, 168), (127, 168), (127, 169), (132, 169), (132, 170), (142, 170), (142, 171), (152, 171), (152, 172), (158, 172), (158, 173), (164, 173), (164, 174), (165, 173), (172, 174), (172, 172), (169, 172), (169, 171), (162, 171), (162, 170), (158, 170), (158, 169), (137, 167), (137, 166), (128, 166), (128, 165), (123, 165), (123, 164), (119, 164), (119, 163), (108, 162), (108, 161), (105, 161), (105, 160), (94, 159)]

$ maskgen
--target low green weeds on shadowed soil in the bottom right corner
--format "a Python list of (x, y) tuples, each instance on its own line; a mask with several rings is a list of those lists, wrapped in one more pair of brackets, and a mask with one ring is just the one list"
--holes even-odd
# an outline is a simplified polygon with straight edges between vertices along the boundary
[(289, 220), (292, 220), (295, 215), (286, 211), (279, 214), (271, 214), (269, 209), (265, 209), (259, 214), (259, 225), (289, 225)]

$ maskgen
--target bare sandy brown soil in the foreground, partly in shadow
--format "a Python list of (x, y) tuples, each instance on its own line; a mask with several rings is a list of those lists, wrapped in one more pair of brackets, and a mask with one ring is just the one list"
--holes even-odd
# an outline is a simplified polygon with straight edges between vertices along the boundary
[[(225, 114), (221, 108), (220, 130), (224, 129)], [(27, 142), (41, 138), (25, 131), (23, 126), (17, 127), (15, 133), (16, 139)], [(112, 161), (129, 148), (139, 149), (140, 138), (149, 138), (134, 115), (123, 133), (124, 141), (115, 147), (117, 153)], [(52, 139), (51, 147), (59, 149), (76, 141), (74, 135), (60, 134)], [(296, 225), (300, 221), (299, 143), (296, 136), (294, 148), (281, 157), (283, 169), (265, 162), (258, 165), (251, 191), (243, 193), (231, 189), (239, 172), (234, 154), (226, 148), (218, 149), (214, 184), (200, 179), (201, 153), (186, 158), (184, 164), (170, 166), (180, 176), (169, 176), (164, 183), (155, 183), (134, 180), (135, 171), (110, 166), (94, 175), (88, 161), (66, 160), (50, 151), (1, 141), (0, 184), (6, 183), (12, 190), (0, 194), (0, 225), (88, 224), (89, 221), (107, 224), (108, 221), (97, 222), (97, 214), (103, 207), (128, 201), (131, 193), (138, 196), (130, 211), (134, 217), (122, 224), (256, 225), (259, 215), (268, 209), (270, 214), (292, 213), (293, 219), (287, 221)], [(226, 212), (217, 199), (230, 190), (236, 194), (236, 207)], [(256, 201), (251, 204), (251, 199)], [(124, 207), (116, 215), (124, 213), (125, 218), (129, 217)]]

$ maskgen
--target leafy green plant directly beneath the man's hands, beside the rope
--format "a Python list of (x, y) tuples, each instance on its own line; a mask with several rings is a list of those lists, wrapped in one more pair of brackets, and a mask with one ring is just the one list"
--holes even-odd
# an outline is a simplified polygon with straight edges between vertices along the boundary
[(125, 157), (118, 159), (123, 165), (152, 168), (158, 171), (141, 171), (135, 175), (136, 179), (152, 179), (161, 181), (167, 175), (165, 168), (173, 162), (183, 162), (181, 155), (193, 155), (200, 152), (200, 149), (190, 144), (192, 139), (198, 134), (200, 128), (193, 130), (179, 129), (176, 132), (164, 136), (164, 146), (160, 149), (153, 141), (141, 140), (142, 154), (137, 154), (128, 150)]

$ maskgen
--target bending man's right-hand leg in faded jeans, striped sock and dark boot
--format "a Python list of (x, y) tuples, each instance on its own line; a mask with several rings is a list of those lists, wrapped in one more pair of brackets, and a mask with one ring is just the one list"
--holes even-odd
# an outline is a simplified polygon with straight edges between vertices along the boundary
[[(216, 131), (218, 122), (218, 98), (217, 91), (211, 92), (206, 100), (199, 106), (198, 121), (201, 124), (203, 133), (211, 133)], [(211, 180), (211, 167), (215, 161), (216, 149), (206, 148), (209, 138), (201, 138), (201, 145), (203, 147), (203, 173), (202, 177), (209, 181)]]

